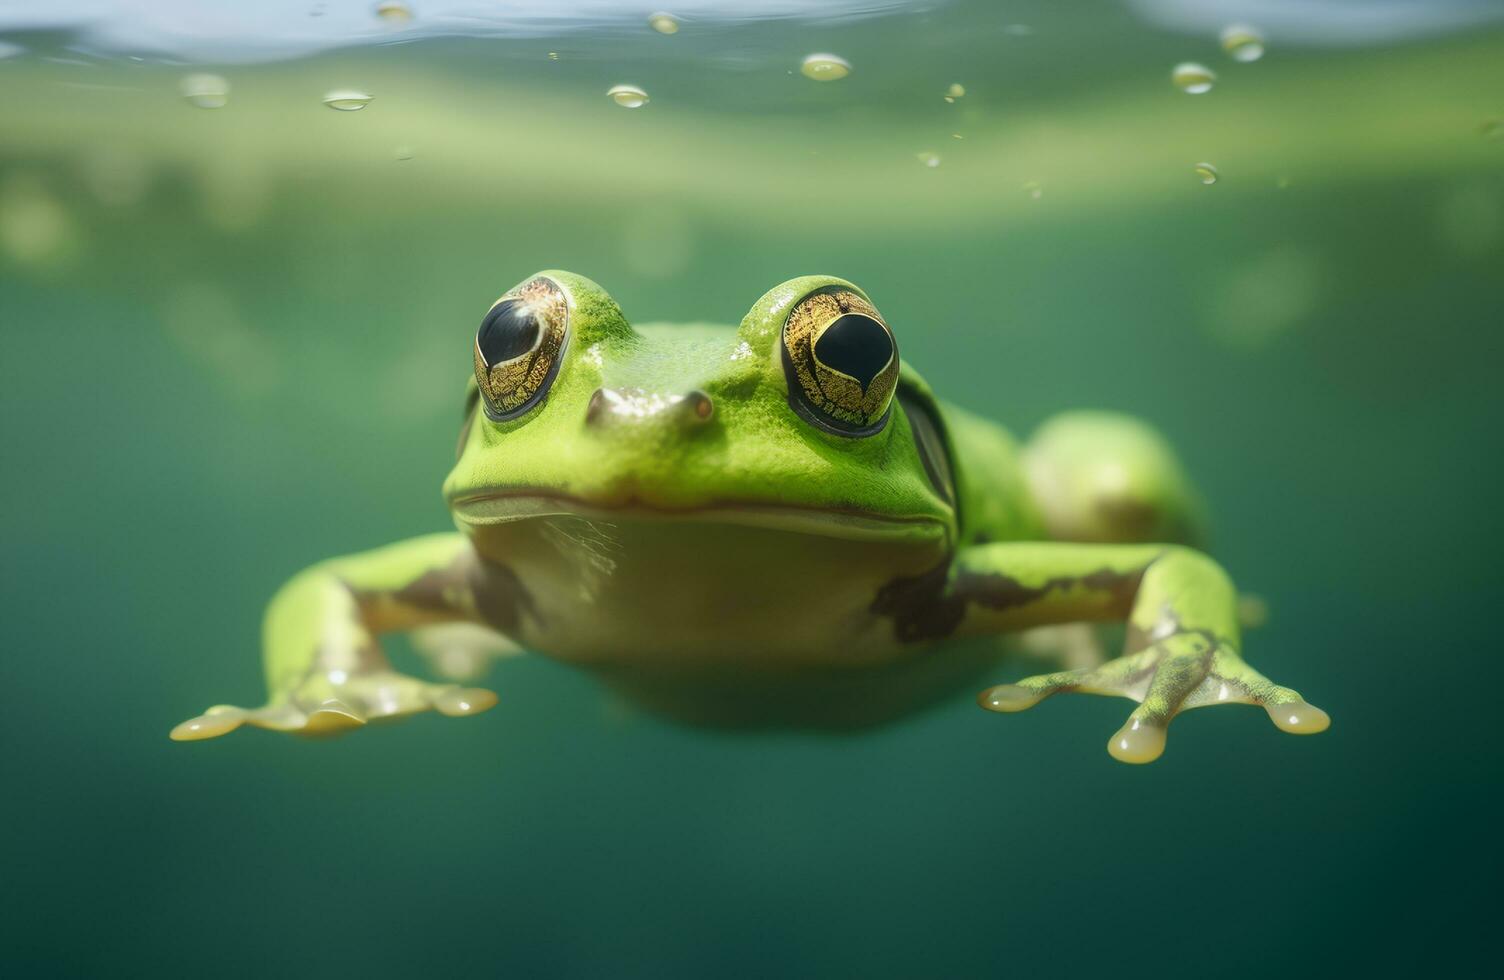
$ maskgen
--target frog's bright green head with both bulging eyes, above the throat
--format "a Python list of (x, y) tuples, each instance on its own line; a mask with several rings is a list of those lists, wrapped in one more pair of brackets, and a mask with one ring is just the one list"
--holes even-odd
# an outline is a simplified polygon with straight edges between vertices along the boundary
[(949, 454), (925, 383), (856, 286), (790, 280), (735, 331), (633, 328), (603, 289), (540, 272), (474, 343), (462, 526), (683, 519), (946, 547)]

